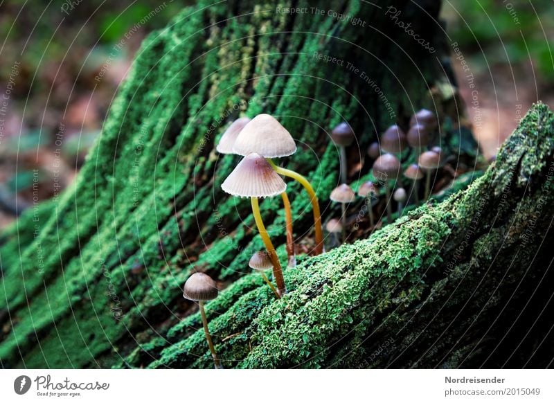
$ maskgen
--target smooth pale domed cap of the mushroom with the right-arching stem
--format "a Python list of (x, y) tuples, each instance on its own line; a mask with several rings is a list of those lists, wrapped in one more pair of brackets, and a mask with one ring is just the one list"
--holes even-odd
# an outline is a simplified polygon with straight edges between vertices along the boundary
[(256, 152), (265, 158), (278, 158), (294, 154), (296, 143), (276, 118), (260, 114), (240, 131), (233, 152), (244, 156)]

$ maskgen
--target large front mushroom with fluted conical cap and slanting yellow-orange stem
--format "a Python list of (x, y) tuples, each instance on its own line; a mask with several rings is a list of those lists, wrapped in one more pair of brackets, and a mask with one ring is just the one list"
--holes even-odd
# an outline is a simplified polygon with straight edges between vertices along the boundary
[(269, 239), (265, 229), (262, 215), (260, 215), (260, 206), (258, 197), (272, 197), (285, 192), (287, 184), (271, 168), (271, 165), (260, 154), (255, 152), (247, 155), (238, 163), (233, 172), (223, 181), (221, 188), (224, 192), (238, 197), (250, 197), (252, 204), (252, 213), (260, 236), (265, 244), (265, 249), (273, 263), (273, 276), (277, 283), (279, 294), (284, 294), (285, 280), (283, 279), (283, 269), (281, 268), (275, 247)]

